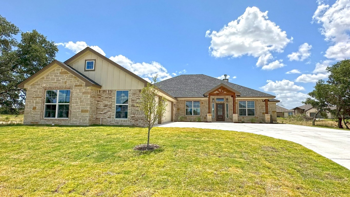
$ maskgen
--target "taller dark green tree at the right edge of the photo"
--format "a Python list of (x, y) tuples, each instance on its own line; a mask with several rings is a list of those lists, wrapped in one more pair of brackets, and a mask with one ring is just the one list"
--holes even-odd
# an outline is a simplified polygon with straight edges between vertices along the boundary
[[(330, 73), (327, 82), (331, 85), (329, 100), (332, 105), (336, 106), (336, 110), (332, 110), (332, 113), (338, 118), (338, 127), (343, 128), (342, 120), (350, 110), (350, 60), (337, 62), (327, 67), (327, 71)], [(345, 126), (349, 128), (346, 123)]]

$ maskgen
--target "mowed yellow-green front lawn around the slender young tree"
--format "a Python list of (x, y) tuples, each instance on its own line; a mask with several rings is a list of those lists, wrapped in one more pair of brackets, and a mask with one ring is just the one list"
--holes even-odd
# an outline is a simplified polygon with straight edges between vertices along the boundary
[(350, 196), (350, 170), (290, 141), (196, 128), (0, 127), (0, 196)]

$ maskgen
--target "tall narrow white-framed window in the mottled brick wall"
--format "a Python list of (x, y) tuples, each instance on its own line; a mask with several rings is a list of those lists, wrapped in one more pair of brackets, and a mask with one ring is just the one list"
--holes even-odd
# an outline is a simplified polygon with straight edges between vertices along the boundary
[(128, 118), (128, 90), (117, 90), (116, 92), (116, 119)]

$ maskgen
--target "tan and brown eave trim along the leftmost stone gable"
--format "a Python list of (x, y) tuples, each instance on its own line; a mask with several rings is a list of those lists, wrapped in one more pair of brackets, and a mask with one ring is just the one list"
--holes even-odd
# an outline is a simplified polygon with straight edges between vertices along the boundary
[[(54, 67), (52, 67), (52, 66), (54, 66)], [(88, 86), (92, 86), (92, 87), (96, 87), (96, 88), (99, 88), (99, 89), (101, 88), (100, 85), (96, 85), (96, 84), (91, 83), (89, 80), (87, 80), (84, 77), (80, 76), (78, 73), (70, 72), (70, 70), (71, 70), (70, 68), (68, 68), (66, 65), (62, 64), (61, 62), (57, 61), (56, 59), (54, 61), (52, 61), (50, 64), (44, 66), (44, 68), (42, 68), (41, 70), (36, 72), (34, 75), (28, 77), (26, 80), (24, 80), (23, 82), (18, 84), (18, 87), (19, 88), (24, 88), (24, 89), (28, 88), (28, 86), (30, 84), (32, 84), (32, 83), (34, 83), (36, 81), (35, 79), (41, 78), (43, 75), (49, 73), (50, 71), (52, 71), (53, 69), (57, 68), (58, 66), (61, 66), (66, 71), (68, 71), (72, 75), (76, 76), (77, 78), (79, 78), (80, 80), (85, 82), (85, 86), (87, 86), (87, 87)], [(48, 70), (48, 69), (50, 69), (50, 70)], [(30, 82), (32, 82), (32, 83), (30, 83)]]

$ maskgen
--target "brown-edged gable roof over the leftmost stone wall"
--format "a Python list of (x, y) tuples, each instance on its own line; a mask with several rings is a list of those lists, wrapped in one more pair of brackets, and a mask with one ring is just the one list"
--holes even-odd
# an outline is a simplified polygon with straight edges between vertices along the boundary
[(73, 69), (71, 66), (66, 65), (63, 62), (57, 61), (56, 59), (54, 61), (52, 61), (50, 64), (44, 66), (41, 70), (37, 71), (34, 75), (28, 77), (26, 80), (24, 80), (23, 82), (21, 82), (20, 84), (18, 84), (19, 88), (24, 88), (24, 85), (29, 82), (31, 79), (35, 78), (36, 76), (40, 75), (41, 73), (43, 73), (45, 70), (49, 69), (51, 66), (53, 65), (59, 65), (61, 66), (63, 69), (65, 69), (66, 71), (70, 72), (72, 75), (78, 77), (79, 79), (81, 79), (83, 82), (85, 82), (85, 86), (89, 87), (97, 87), (97, 88), (101, 88), (101, 86), (94, 82), (92, 79), (90, 79), (89, 77), (86, 77), (85, 75), (83, 75), (82, 73), (80, 73), (79, 71)]

